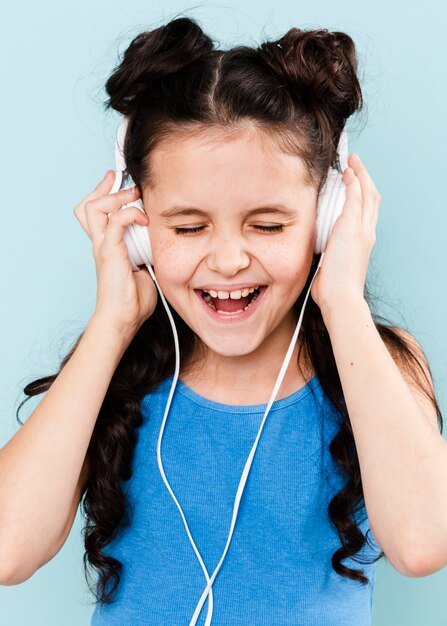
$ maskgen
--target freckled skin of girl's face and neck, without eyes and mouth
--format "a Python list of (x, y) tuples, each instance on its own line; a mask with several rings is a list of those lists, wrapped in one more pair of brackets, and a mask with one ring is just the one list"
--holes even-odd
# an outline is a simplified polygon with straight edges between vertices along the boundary
[[(143, 188), (143, 203), (155, 275), (167, 300), (207, 347), (201, 363), (180, 377), (216, 401), (267, 402), (297, 324), (292, 306), (313, 259), (317, 191), (303, 182), (304, 164), (248, 127), (160, 144), (151, 168), (154, 184)], [(174, 204), (209, 215), (162, 217)], [(246, 216), (251, 208), (278, 204), (290, 215)], [(256, 228), (277, 224), (283, 232)], [(175, 232), (194, 226), (205, 228)], [(210, 319), (194, 289), (236, 283), (268, 285), (255, 314), (233, 324)], [(305, 382), (297, 350), (277, 398)]]

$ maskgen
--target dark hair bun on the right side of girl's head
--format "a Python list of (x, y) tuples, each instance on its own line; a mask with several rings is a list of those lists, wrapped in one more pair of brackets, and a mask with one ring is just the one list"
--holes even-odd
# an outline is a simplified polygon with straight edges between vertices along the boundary
[(362, 106), (355, 45), (346, 33), (291, 28), (258, 53), (306, 108), (325, 109), (338, 126)]

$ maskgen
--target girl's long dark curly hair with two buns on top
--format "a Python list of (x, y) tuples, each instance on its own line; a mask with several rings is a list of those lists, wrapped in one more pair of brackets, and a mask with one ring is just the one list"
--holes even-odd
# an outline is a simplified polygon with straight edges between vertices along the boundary
[[(125, 158), (140, 187), (151, 184), (150, 156), (164, 139), (173, 134), (189, 136), (204, 127), (230, 132), (248, 122), (268, 133), (282, 150), (301, 157), (308, 182), (320, 191), (329, 167), (339, 168), (336, 149), (346, 120), (363, 106), (357, 70), (354, 42), (343, 32), (291, 28), (277, 41), (266, 41), (256, 48), (220, 50), (195, 20), (181, 17), (131, 41), (107, 80), (105, 108), (129, 117)], [(315, 255), (314, 263), (318, 258)], [(294, 304), (297, 316), (310, 281), (311, 275)], [(364, 297), (373, 312), (374, 301), (367, 286)], [(191, 328), (172, 308), (171, 312), (181, 361), (186, 365), (196, 358), (200, 345)], [(442, 415), (427, 376), (423, 383), (416, 375), (417, 371), (424, 374), (424, 370), (411, 342), (374, 312), (373, 319), (390, 352), (433, 402), (442, 432)], [(57, 373), (26, 385), (28, 398), (19, 406), (17, 417), (24, 402), (50, 388), (81, 337)], [(299, 363), (303, 351), (303, 359), (311, 364), (326, 396), (343, 418), (330, 443), (331, 455), (347, 478), (328, 506), (341, 541), (332, 556), (332, 567), (341, 576), (366, 584), (363, 570), (342, 564), (348, 557), (356, 560), (356, 553), (367, 541), (355, 519), (364, 502), (363, 489), (329, 334), (311, 298), (300, 337)], [(144, 395), (173, 374), (174, 365), (172, 330), (158, 299), (153, 315), (138, 329), (114, 372), (87, 450), (89, 474), (81, 495), (86, 516), (84, 568), (87, 581), (88, 563), (100, 574), (95, 588), (90, 589), (101, 603), (113, 601), (122, 567), (102, 550), (131, 524), (122, 481), (132, 475), (131, 462), (142, 423), (140, 403)], [(380, 552), (373, 561), (382, 556)], [(107, 590), (109, 582), (111, 589)]]

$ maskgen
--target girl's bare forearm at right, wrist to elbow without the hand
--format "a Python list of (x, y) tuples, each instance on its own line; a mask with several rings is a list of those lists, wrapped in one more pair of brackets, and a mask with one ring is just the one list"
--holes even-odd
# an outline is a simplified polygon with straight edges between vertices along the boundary
[[(322, 315), (352, 425), (371, 530), (401, 573), (436, 572), (447, 565), (447, 442), (438, 431), (436, 411), (396, 365), (364, 299), (345, 297), (339, 306), (332, 301)], [(426, 367), (414, 338), (412, 344)], [(426, 373), (429, 377), (428, 368)]]

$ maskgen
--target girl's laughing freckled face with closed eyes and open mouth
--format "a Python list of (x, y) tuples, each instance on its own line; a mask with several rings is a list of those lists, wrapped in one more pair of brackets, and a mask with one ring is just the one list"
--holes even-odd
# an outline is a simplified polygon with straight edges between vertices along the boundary
[[(151, 170), (143, 203), (168, 302), (216, 355), (246, 355), (266, 341), (285, 350), (315, 241), (317, 190), (304, 184), (302, 160), (247, 128), (161, 143)], [(258, 285), (244, 313), (217, 313), (202, 295)], [(242, 308), (229, 302), (221, 308)]]

